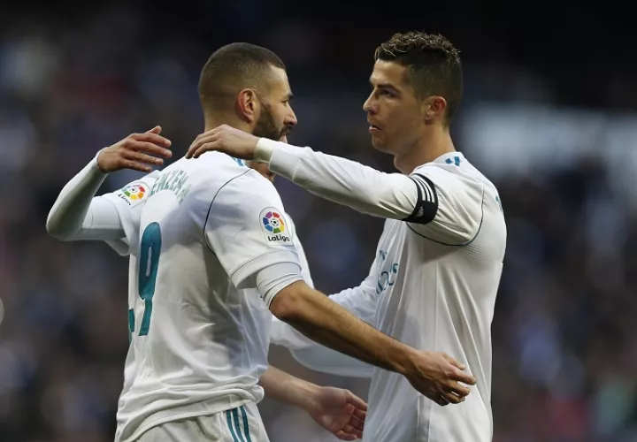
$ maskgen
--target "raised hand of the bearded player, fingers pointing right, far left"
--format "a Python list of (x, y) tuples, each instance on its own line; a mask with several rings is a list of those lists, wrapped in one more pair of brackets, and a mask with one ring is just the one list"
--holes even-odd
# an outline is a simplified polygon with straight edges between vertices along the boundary
[(97, 156), (97, 166), (104, 172), (122, 169), (152, 171), (151, 165), (164, 164), (164, 158), (173, 155), (168, 149), (171, 141), (159, 133), (161, 126), (155, 126), (144, 133), (131, 133), (125, 139), (102, 149)]

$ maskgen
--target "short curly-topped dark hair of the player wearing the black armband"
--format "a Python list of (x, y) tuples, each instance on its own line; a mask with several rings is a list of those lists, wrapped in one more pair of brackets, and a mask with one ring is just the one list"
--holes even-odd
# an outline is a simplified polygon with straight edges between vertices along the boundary
[(420, 99), (440, 95), (447, 101), (445, 120), (456, 113), (463, 94), (460, 55), (440, 34), (394, 34), (374, 53), (374, 59), (393, 61), (407, 68), (407, 80)]

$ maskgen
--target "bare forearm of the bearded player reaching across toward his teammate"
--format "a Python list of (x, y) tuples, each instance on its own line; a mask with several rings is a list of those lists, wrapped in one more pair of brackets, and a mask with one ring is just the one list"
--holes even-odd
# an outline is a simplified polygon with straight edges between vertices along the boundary
[(270, 309), (319, 344), (385, 370), (404, 373), (414, 351), (303, 282), (295, 282), (277, 294)]

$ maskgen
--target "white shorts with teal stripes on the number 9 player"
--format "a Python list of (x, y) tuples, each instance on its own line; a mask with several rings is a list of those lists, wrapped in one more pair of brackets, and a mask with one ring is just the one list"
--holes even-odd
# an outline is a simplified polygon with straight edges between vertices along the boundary
[(145, 431), (135, 442), (270, 442), (257, 404), (161, 423)]

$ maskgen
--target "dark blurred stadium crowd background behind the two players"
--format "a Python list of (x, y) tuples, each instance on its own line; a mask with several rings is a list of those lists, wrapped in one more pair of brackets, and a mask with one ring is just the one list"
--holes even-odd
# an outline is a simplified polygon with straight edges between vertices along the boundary
[[(604, 6), (610, 6), (605, 4)], [(518, 8), (517, 10), (514, 8)], [(605, 13), (604, 11), (609, 11)], [(112, 440), (127, 353), (127, 260), (44, 230), (61, 187), (157, 124), (183, 152), (220, 45), (288, 65), (290, 142), (383, 171), (361, 109), (374, 48), (397, 31), (462, 51), (457, 148), (499, 187), (508, 248), (493, 324), (495, 442), (637, 441), (637, 66), (630, 14), (558, 4), (176, 2), (0, 5), (0, 441)], [(113, 191), (134, 172), (113, 174)], [(382, 220), (276, 183), (316, 286), (357, 286)], [(280, 368), (366, 397), (364, 380)], [(273, 442), (330, 441), (260, 404)], [(468, 441), (471, 442), (471, 441)]]

